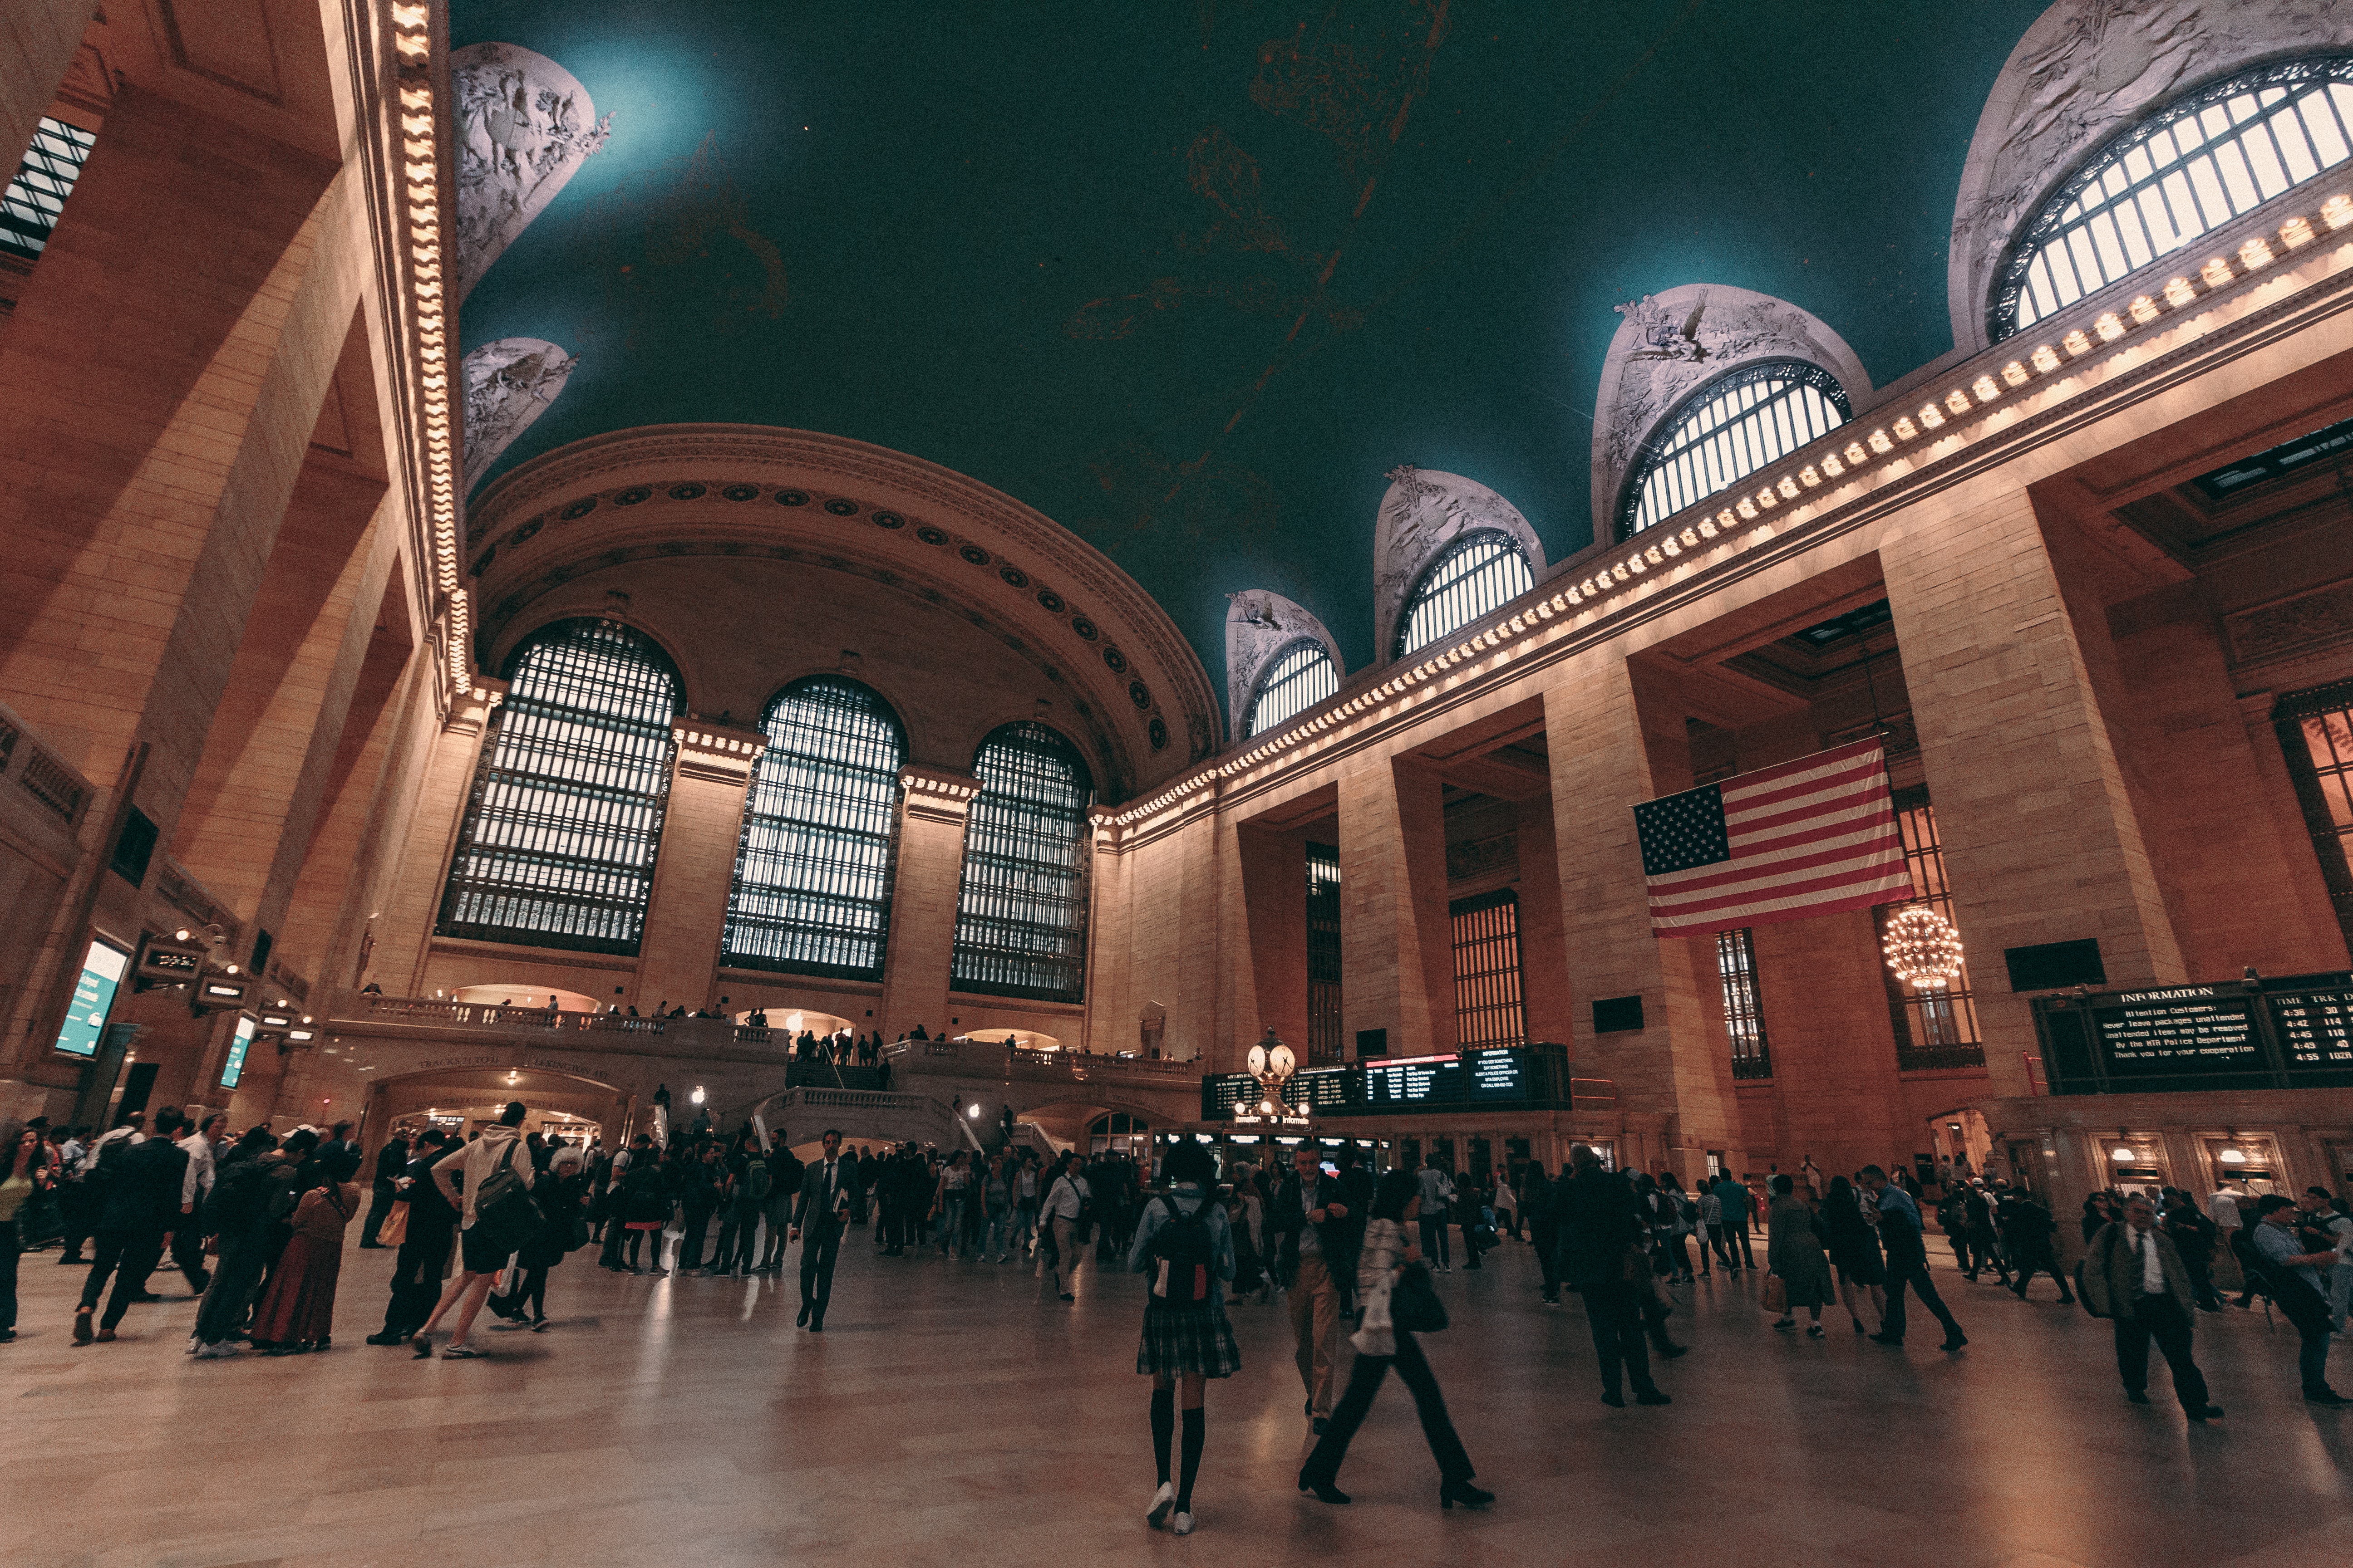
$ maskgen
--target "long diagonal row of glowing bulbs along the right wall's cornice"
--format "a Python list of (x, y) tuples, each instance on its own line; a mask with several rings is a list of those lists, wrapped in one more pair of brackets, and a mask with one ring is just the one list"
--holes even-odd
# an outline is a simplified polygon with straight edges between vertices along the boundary
[[(2315, 214), (2292, 216), (2285, 223), (2280, 223), (2278, 230), (2280, 244), (2287, 247), (2289, 252), (2301, 249), (2311, 244), (2322, 228), (2329, 233), (2353, 228), (2353, 195), (2332, 195), (2325, 202), (2320, 202), (2320, 209)], [(2141, 294), (2127, 308), (2099, 315), (2089, 329), (2078, 327), (2066, 336), (2061, 336), (2057, 343), (2035, 343), (2035, 348), (2031, 348), (2024, 360), (2009, 360), (2000, 367), (2000, 371), (1979, 374), (1969, 383), (1946, 390), (1944, 397), (1915, 409), (1913, 414), (1904, 414), (1892, 423), (1871, 430), (1868, 437), (1861, 440), (1849, 437), (1842, 447), (1824, 447), (1819, 454), (1805, 454), (1805, 451), (1791, 454), (1786, 458), (1791, 468), (1772, 477), (1762, 489), (1741, 496), (1732, 505), (1718, 508), (1713, 517), (1701, 517), (1673, 534), (1666, 534), (1661, 529), (1645, 529), (1640, 541), (1628, 541), (1631, 548), (1628, 555), (1619, 557), (1617, 562), (1595, 567), (1593, 576), (1586, 576), (1572, 583), (1569, 588), (1562, 588), (1551, 599), (1539, 602), (1532, 611), (1520, 611), (1508, 623), (1478, 632), (1468, 642), (1445, 649), (1442, 654), (1433, 654), (1424, 658), (1419, 665), (1412, 665), (1409, 670), (1400, 670), (1398, 675), (1388, 677), (1379, 686), (1372, 686), (1369, 691), (1348, 698), (1339, 708), (1320, 712), (1313, 719), (1301, 719), (1297, 726), (1268, 736), (1249, 752), (1233, 757), (1224, 764), (1217, 764), (1214, 769), (1207, 769), (1202, 773), (1193, 773), (1191, 778), (1181, 778), (1167, 785), (1160, 795), (1136, 802), (1127, 811), (1111, 813), (1106, 820), (1127, 825), (1158, 816), (1160, 811), (1174, 806), (1186, 795), (1207, 788), (1212, 780), (1233, 778), (1238, 773), (1257, 769), (1261, 762), (1268, 762), (1285, 750), (1306, 745), (1313, 736), (1327, 731), (1334, 724), (1344, 724), (1358, 715), (1391, 705), (1398, 698), (1407, 696), (1412, 686), (1445, 672), (1452, 665), (1480, 658), (1489, 649), (1499, 649), (1513, 637), (1534, 632), (1539, 623), (1551, 621), (1553, 616), (1565, 616), (1572, 609), (1581, 614), (1600, 614), (1600, 609), (1609, 599), (1619, 597), (1619, 592), (1626, 585), (1638, 583), (1652, 569), (1666, 567), (1671, 562), (1680, 564), (1678, 559), (1680, 555), (1697, 552), (1699, 545), (1706, 541), (1737, 534), (1744, 522), (1755, 522), (1765, 510), (1772, 510), (1781, 501), (1798, 501), (1800, 496), (1805, 496), (1807, 489), (1814, 489), (1824, 480), (1840, 480), (1849, 473), (1859, 475), (1861, 470), (1875, 465), (1880, 458), (1892, 456), (1899, 442), (1918, 440), (1922, 435), (1922, 425), (1927, 430), (1939, 430), (1941, 425), (1948, 425), (1958, 418), (1981, 414), (1986, 407), (2009, 397), (2012, 393), (2019, 393), (2021, 388), (2033, 386), (2038, 378), (2061, 371), (2066, 367), (2066, 360), (2061, 360), (2059, 355), (2061, 348), (2066, 348), (2071, 357), (2097, 353), (2101, 346), (2118, 343), (2132, 336), (2137, 329), (2148, 327), (2169, 313), (2179, 313), (2195, 306), (2202, 299), (2200, 284), (2205, 284), (2207, 294), (2221, 287), (2231, 287), (2240, 282), (2242, 275), (2257, 273), (2261, 270), (2261, 266), (2271, 266), (2275, 256), (2278, 254), (2273, 252), (2268, 240), (2261, 237), (2249, 240), (2238, 252), (2240, 270), (2233, 270), (2231, 261), (2226, 261), (2224, 256), (2214, 256), (2212, 261), (2205, 263), (2205, 268), (2200, 268), (2198, 282), (2188, 277), (2169, 280), (2162, 289), (2165, 294), (2162, 306), (2153, 296)], [(2094, 334), (2099, 343), (2092, 341)], [(1958, 442), (1967, 437), (1953, 435), (1948, 440)], [(1727, 543), (1729, 548), (1739, 550), (1748, 543), (1769, 536), (1772, 536), (1769, 529), (1760, 529), (1753, 534), (1753, 538), (1729, 538)], [(1946, 931), (1951, 931), (1951, 926), (1946, 926)], [(1958, 959), (1958, 936), (1953, 938), (1953, 947)], [(1929, 959), (1925, 969), (1934, 969), (1937, 954), (1922, 954), (1922, 957)]]

